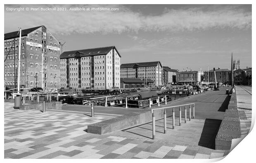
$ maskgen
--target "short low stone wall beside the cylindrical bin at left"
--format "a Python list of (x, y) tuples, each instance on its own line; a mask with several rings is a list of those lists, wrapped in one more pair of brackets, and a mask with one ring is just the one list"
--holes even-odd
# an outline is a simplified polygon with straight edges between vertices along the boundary
[[(31, 110), (31, 109), (43, 110), (43, 103), (21, 105), (19, 109), (20, 110)], [(45, 110), (49, 110), (49, 109), (59, 109), (59, 110), (62, 109), (62, 102), (45, 102)]]

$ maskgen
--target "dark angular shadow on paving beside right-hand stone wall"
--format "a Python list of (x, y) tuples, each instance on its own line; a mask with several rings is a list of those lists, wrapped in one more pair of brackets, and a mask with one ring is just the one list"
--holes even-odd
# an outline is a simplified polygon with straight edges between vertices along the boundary
[(218, 119), (205, 119), (204, 128), (198, 142), (199, 146), (215, 149), (215, 139), (220, 128), (221, 121), (222, 120)]

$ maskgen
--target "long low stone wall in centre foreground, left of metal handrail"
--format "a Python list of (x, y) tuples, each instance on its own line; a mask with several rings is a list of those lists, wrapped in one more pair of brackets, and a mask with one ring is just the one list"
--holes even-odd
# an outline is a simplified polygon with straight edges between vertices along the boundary
[[(154, 111), (156, 120), (164, 118), (164, 110)], [(88, 133), (105, 134), (152, 122), (150, 110), (138, 110), (123, 116), (88, 125)]]

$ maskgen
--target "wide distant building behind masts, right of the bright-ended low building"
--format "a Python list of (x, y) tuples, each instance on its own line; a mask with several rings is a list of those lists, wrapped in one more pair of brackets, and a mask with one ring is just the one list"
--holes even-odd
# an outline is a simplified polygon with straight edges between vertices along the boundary
[[(231, 70), (230, 69), (215, 69), (216, 71), (216, 81), (220, 83), (231, 83)], [(209, 80), (208, 80), (209, 79)], [(204, 71), (204, 80), (205, 82), (215, 82), (214, 77), (214, 71), (209, 70), (209, 76), (208, 71)]]

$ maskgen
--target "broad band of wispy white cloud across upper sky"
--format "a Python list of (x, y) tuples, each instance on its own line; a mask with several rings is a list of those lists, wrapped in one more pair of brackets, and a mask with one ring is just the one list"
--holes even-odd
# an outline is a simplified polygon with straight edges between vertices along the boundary
[[(6, 5), (5, 7), (9, 6)], [(21, 6), (32, 7), (32, 5)], [(39, 7), (40, 5), (33, 5), (33, 7), (36, 6)], [(56, 6), (50, 5), (47, 7)], [(69, 9), (69, 7), (76, 6), (62, 5), (62, 7)], [(84, 5), (84, 7), (96, 6)], [(99, 7), (105, 6), (100, 5)], [(209, 10), (207, 7), (171, 9), (165, 10), (157, 16), (143, 15), (123, 5), (107, 5), (107, 7), (117, 7), (119, 11), (24, 11), (18, 13), (5, 10), (5, 26), (11, 27), (12, 22), (20, 25), (24, 25), (24, 22), (26, 22), (29, 27), (44, 24), (54, 33), (71, 34), (123, 33), (140, 30), (177, 32), (211, 28), (248, 29), (251, 28), (252, 22), (251, 11), (247, 11), (243, 7), (217, 6)], [(133, 39), (136, 40), (137, 38)]]

